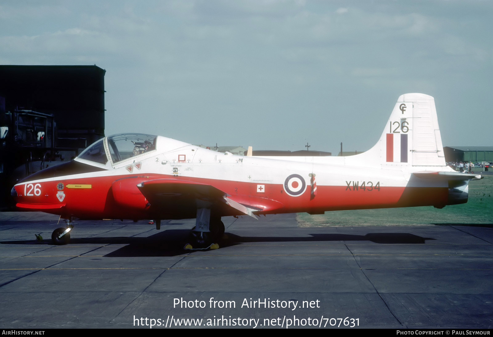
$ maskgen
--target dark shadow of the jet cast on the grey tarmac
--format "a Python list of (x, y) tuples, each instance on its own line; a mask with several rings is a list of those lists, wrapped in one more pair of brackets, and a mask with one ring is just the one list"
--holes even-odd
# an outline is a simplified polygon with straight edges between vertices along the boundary
[[(183, 249), (187, 243), (189, 230), (166, 230), (148, 237), (83, 237), (70, 239), (70, 245), (76, 244), (126, 244), (125, 246), (106, 254), (105, 257), (151, 257), (176, 256), (190, 253)], [(315, 233), (307, 237), (286, 236), (238, 236), (225, 233), (218, 241), (219, 247), (229, 247), (246, 242), (315, 242), (315, 241), (372, 241), (375, 243), (407, 243), (423, 244), (430, 237), (422, 237), (409, 233), (369, 233), (366, 235)], [(51, 245), (51, 240), (1, 241), (2, 244), (44, 244)]]

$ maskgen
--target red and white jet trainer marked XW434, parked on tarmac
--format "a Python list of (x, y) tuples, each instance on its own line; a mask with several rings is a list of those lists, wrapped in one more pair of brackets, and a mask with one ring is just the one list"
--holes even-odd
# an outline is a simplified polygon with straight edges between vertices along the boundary
[(405, 94), (370, 150), (348, 157), (254, 157), (219, 153), (155, 135), (104, 137), (74, 160), (41, 170), (12, 189), (17, 207), (73, 219), (192, 219), (185, 248), (217, 248), (223, 216), (467, 202), (482, 176), (445, 164), (431, 96)]

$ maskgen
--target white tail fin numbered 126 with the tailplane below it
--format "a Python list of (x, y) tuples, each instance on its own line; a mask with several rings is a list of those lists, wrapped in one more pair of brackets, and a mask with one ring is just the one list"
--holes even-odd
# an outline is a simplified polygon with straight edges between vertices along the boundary
[(435, 100), (424, 94), (401, 95), (377, 144), (344, 158), (349, 165), (363, 162), (368, 167), (410, 173), (406, 187), (448, 188), (447, 198), (438, 198), (433, 204), (438, 208), (467, 202), (468, 181), (482, 178), (446, 166)]

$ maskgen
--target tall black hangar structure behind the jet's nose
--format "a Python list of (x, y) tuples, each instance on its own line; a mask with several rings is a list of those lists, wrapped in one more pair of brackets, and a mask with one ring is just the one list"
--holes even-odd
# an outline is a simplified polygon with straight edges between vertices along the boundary
[(0, 209), (19, 179), (105, 135), (106, 70), (0, 66)]

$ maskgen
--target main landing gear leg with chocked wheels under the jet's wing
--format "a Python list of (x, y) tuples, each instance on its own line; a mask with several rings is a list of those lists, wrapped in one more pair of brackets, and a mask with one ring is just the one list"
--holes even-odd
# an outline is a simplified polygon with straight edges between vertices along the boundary
[(198, 208), (195, 227), (190, 231), (189, 243), (185, 249), (217, 249), (218, 239), (224, 234), (220, 217), (211, 217), (210, 208)]

